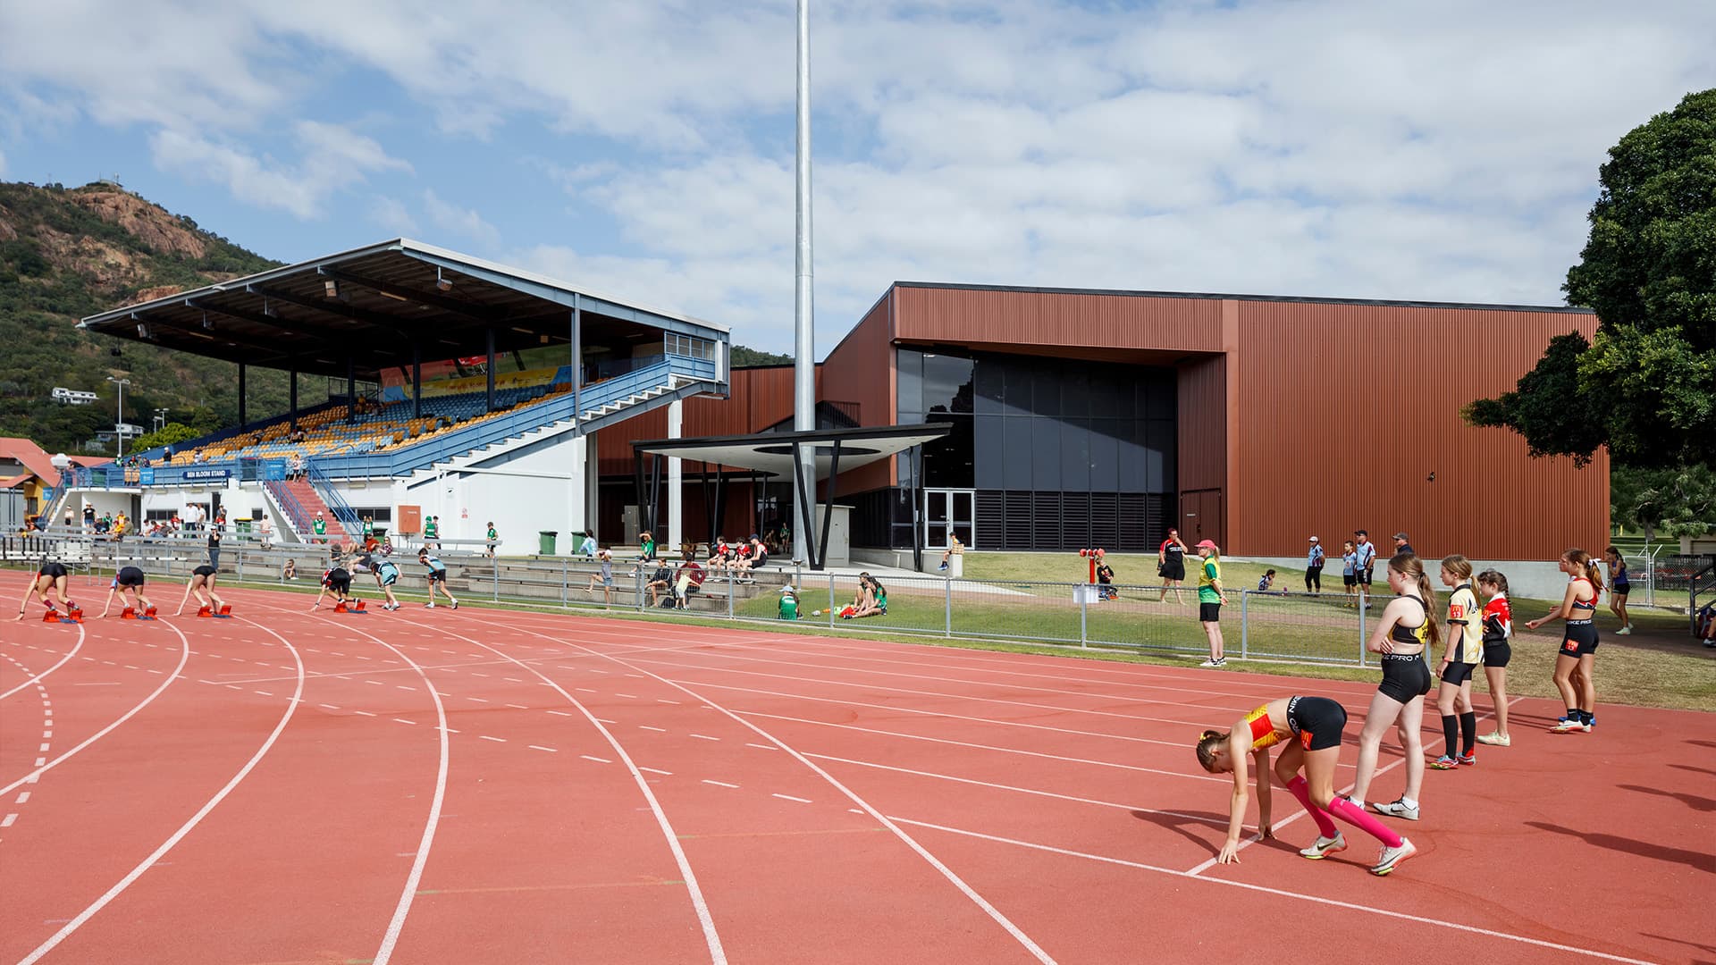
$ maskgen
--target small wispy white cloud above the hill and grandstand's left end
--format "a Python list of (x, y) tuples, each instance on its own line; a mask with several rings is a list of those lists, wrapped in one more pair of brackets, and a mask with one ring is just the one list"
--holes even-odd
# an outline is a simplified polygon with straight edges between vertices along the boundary
[(293, 141), (302, 155), (297, 163), (256, 156), (177, 129), (158, 130), (149, 137), (149, 149), (161, 168), (213, 180), (244, 201), (297, 218), (319, 216), (333, 192), (360, 184), (371, 172), (410, 170), (376, 141), (335, 124), (300, 120), (293, 125)]

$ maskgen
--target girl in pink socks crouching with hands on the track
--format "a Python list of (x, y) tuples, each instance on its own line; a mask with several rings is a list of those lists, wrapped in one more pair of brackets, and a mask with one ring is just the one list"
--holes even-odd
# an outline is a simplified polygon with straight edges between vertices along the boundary
[[(1234, 721), (1229, 733), (1206, 730), (1198, 738), (1198, 762), (1211, 774), (1234, 774), (1234, 797), (1227, 812), (1227, 841), (1217, 864), (1239, 862), (1239, 829), (1246, 821), (1246, 754), (1258, 768), (1258, 840), (1273, 838), (1270, 829), (1270, 747), (1282, 743), (1275, 759), (1275, 776), (1316, 821), (1318, 838), (1299, 853), (1321, 860), (1347, 850), (1347, 840), (1330, 821), (1340, 817), (1381, 841), (1383, 850), (1371, 874), (1388, 874), (1417, 853), (1412, 841), (1390, 831), (1363, 807), (1335, 797), (1335, 761), (1340, 757), (1340, 733), (1347, 726), (1347, 709), (1328, 697), (1282, 697), (1270, 701)], [(1304, 769), (1304, 776), (1299, 771)]]

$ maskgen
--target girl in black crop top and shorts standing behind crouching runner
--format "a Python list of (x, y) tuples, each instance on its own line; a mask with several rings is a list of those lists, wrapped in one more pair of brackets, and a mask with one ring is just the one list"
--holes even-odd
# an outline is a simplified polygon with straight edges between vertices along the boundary
[(1390, 817), (1417, 821), (1417, 793), (1424, 786), (1424, 740), (1419, 725), (1424, 723), (1424, 694), (1429, 694), (1429, 666), (1424, 651), (1441, 642), (1429, 608), (1436, 594), (1424, 579), (1424, 563), (1412, 553), (1397, 553), (1388, 560), (1388, 589), (1395, 598), (1383, 608), (1366, 649), (1383, 654), (1383, 682), (1371, 697), (1359, 731), (1359, 769), (1352, 778), (1352, 804), (1364, 807), (1364, 793), (1376, 776), (1376, 754), (1381, 750), (1383, 731), (1397, 725), (1400, 747), (1405, 749), (1405, 792), (1390, 804), (1378, 804), (1376, 812)]

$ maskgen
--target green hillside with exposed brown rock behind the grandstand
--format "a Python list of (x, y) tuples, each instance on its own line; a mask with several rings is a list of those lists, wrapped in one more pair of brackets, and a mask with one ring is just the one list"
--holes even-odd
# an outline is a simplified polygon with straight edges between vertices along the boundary
[[(113, 184), (0, 182), (0, 436), (26, 436), (48, 452), (77, 452), (96, 431), (112, 431), (115, 385), (127, 378), (125, 421), (149, 429), (156, 409), (199, 433), (239, 417), (237, 371), (228, 362), (118, 343), (76, 328), (77, 319), (278, 266), (197, 228)], [(786, 355), (733, 347), (733, 364), (781, 364)], [(93, 405), (51, 400), (55, 386), (96, 391)], [(299, 404), (326, 398), (328, 385), (304, 378)], [(287, 409), (287, 374), (254, 369), (247, 414)], [(106, 455), (112, 455), (108, 452)]]

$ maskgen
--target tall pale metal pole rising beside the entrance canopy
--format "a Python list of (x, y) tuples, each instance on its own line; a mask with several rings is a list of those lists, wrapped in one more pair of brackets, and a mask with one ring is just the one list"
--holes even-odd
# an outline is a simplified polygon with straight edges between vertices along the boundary
[[(798, 246), (795, 259), (793, 330), (793, 429), (817, 428), (815, 337), (812, 331), (812, 230), (810, 230), (810, 0), (798, 0)], [(810, 558), (810, 534), (800, 507), (815, 507), (817, 458), (805, 453), (803, 467), (793, 476), (793, 558)], [(803, 501), (800, 501), (803, 500)], [(815, 513), (810, 513), (815, 524)]]

